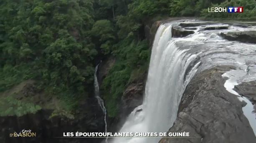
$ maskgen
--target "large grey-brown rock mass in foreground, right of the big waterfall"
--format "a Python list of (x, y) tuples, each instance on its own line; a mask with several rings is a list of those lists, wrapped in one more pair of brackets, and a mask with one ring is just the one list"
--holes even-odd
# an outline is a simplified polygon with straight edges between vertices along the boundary
[(216, 67), (194, 76), (168, 132), (190, 132), (193, 138), (162, 138), (159, 143), (255, 143), (243, 103), (224, 88), (221, 77), (229, 67)]

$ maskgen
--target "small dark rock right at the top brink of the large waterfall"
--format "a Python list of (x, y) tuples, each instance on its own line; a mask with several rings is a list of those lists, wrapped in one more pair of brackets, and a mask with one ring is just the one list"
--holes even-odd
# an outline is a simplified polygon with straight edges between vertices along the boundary
[(184, 28), (180, 27), (179, 25), (172, 26), (172, 37), (186, 37), (190, 34), (194, 34), (193, 30), (185, 30)]

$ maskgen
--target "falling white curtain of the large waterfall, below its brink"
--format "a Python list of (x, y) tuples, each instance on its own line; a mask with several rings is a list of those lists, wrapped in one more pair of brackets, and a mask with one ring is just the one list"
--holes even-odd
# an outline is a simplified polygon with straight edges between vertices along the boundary
[[(173, 125), (185, 87), (200, 62), (197, 54), (179, 49), (172, 25), (161, 25), (155, 35), (143, 104), (128, 116), (119, 132), (167, 132)], [(160, 138), (114, 138), (113, 143), (156, 143)]]

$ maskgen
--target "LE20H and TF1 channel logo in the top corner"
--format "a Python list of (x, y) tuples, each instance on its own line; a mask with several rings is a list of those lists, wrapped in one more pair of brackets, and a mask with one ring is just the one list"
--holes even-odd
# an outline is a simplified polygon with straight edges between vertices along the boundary
[(243, 7), (208, 7), (208, 12), (242, 13)]

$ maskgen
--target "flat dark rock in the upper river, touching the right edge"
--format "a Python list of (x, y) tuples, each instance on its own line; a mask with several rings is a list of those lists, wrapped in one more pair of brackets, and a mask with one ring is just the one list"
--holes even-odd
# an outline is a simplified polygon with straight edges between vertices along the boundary
[(224, 39), (246, 43), (256, 43), (256, 31), (226, 32), (221, 33)]

